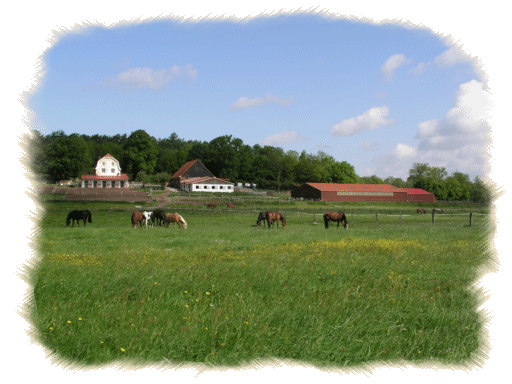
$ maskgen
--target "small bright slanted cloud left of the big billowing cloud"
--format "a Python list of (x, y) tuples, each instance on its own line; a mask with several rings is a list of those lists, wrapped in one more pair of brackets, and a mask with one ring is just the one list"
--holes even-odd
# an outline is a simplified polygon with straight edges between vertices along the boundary
[(386, 119), (389, 115), (389, 109), (386, 106), (372, 108), (358, 117), (352, 117), (348, 120), (333, 125), (331, 129), (332, 136), (352, 136), (363, 131), (372, 131), (385, 125), (393, 123), (392, 119)]

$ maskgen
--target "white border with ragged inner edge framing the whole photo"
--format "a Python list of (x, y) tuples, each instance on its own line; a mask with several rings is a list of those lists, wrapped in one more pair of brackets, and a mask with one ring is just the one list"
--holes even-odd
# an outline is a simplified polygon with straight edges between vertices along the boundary
[[(74, 5), (70, 5), (74, 4)], [(500, 5), (498, 5), (500, 4)], [(505, 2), (486, 1), (258, 1), (258, 2), (179, 2), (167, 1), (65, 1), (10, 2), (3, 8), (2, 23), (2, 82), (3, 115), (7, 122), (2, 134), (3, 185), (2, 220), (3, 239), (7, 249), (2, 252), (2, 342), (3, 376), (17, 382), (489, 382), (506, 375), (510, 357), (510, 323), (506, 322), (510, 303), (510, 257), (505, 244), (508, 233), (506, 214), (509, 203), (503, 195), (497, 201), (497, 230), (494, 245), (500, 252), (499, 272), (488, 273), (479, 284), (487, 290), (484, 308), (490, 312), (487, 342), (492, 348), (482, 368), (466, 370), (458, 368), (383, 368), (374, 367), (372, 373), (323, 371), (304, 365), (274, 362), (252, 365), (244, 369), (208, 370), (200, 366), (187, 369), (162, 370), (157, 368), (131, 369), (114, 365), (90, 370), (73, 370), (56, 365), (47, 359), (47, 352), (28, 335), (30, 324), (20, 316), (22, 307), (30, 295), (30, 286), (20, 279), (23, 265), (32, 257), (30, 241), (37, 230), (34, 218), (39, 211), (28, 197), (31, 182), (23, 165), (25, 158), (21, 136), (28, 132), (27, 122), (33, 116), (20, 103), (25, 92), (35, 92), (44, 78), (42, 54), (55, 43), (59, 34), (76, 31), (80, 26), (101, 23), (113, 26), (121, 21), (143, 21), (166, 15), (201, 19), (206, 17), (230, 17), (237, 20), (249, 16), (276, 14), (296, 10), (325, 12), (332, 16), (348, 15), (367, 21), (397, 21), (410, 25), (423, 25), (450, 37), (463, 46), (467, 53), (477, 56), (482, 71), (488, 76), (488, 88), (492, 93), (493, 147), (490, 148), (490, 177), (505, 189), (510, 178), (507, 152), (507, 119), (510, 99), (510, 75), (507, 56), (508, 10)], [(499, 29), (498, 29), (499, 28)], [(16, 165), (12, 159), (18, 160)], [(176, 381), (175, 381), (176, 380)], [(498, 382), (502, 382), (499, 380)]]

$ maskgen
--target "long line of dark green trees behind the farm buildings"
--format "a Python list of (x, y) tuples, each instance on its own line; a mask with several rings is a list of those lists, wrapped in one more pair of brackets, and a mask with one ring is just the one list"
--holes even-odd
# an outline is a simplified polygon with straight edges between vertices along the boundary
[(176, 133), (157, 139), (144, 130), (130, 135), (84, 135), (55, 131), (43, 135), (32, 131), (31, 168), (40, 179), (56, 182), (95, 174), (97, 161), (110, 153), (119, 160), (130, 180), (146, 184), (169, 181), (187, 161), (199, 159), (215, 176), (233, 182), (254, 183), (261, 189), (290, 190), (305, 182), (391, 184), (398, 188), (421, 188), (439, 200), (489, 202), (488, 186), (476, 177), (455, 172), (448, 176), (442, 167), (414, 164), (407, 180), (358, 176), (346, 161), (336, 161), (323, 151), (308, 154), (280, 147), (252, 147), (232, 135), (211, 141), (184, 140)]

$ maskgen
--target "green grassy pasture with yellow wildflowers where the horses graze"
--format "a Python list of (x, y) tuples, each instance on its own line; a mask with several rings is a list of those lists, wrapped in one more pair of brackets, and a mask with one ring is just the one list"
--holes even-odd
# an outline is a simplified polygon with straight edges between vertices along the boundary
[(472, 364), (484, 348), (471, 284), (488, 216), (355, 210), (326, 230), (312, 205), (269, 230), (258, 212), (167, 207), (187, 230), (134, 229), (133, 204), (96, 202), (71, 207), (92, 213), (71, 228), (67, 205), (46, 203), (30, 272), (35, 337), (58, 361)]

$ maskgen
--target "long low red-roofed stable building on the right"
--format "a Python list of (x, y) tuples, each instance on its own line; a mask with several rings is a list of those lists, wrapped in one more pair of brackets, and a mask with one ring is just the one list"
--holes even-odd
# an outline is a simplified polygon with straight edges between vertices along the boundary
[[(420, 192), (421, 191), (421, 192)], [(293, 198), (321, 201), (394, 201), (435, 203), (432, 193), (403, 189), (388, 184), (305, 183), (292, 188)]]

